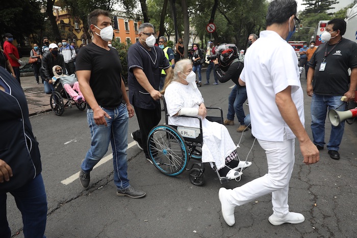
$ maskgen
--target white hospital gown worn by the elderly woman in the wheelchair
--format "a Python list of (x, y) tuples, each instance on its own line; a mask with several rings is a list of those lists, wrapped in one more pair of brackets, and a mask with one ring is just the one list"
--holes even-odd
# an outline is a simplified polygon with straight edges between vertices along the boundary
[[(195, 118), (173, 116), (182, 108), (198, 109), (203, 102), (202, 95), (194, 83), (184, 85), (172, 82), (167, 86), (164, 96), (169, 114), (169, 125), (199, 128), (199, 121)], [(217, 122), (202, 119), (202, 134), (202, 162), (214, 162), (217, 169), (223, 168), (225, 158), (237, 148), (227, 128)]]

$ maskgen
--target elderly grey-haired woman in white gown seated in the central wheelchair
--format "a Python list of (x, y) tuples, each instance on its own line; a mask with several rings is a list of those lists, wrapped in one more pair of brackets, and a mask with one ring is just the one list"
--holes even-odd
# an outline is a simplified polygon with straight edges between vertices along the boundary
[(165, 94), (168, 124), (199, 128), (197, 119), (179, 116), (200, 117), (203, 136), (202, 163), (214, 162), (220, 176), (235, 179), (242, 175), (238, 170), (249, 167), (251, 162), (234, 160), (238, 157), (237, 146), (227, 128), (206, 119), (207, 109), (195, 79), (196, 75), (188, 59), (177, 62), (173, 71), (167, 75), (161, 93)]

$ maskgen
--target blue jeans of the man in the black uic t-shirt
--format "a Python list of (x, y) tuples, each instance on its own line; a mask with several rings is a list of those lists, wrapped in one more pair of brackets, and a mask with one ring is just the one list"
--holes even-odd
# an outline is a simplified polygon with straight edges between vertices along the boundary
[[(325, 144), (325, 119), (327, 110), (346, 110), (346, 102), (341, 101), (341, 96), (322, 96), (313, 94), (311, 100), (311, 130), (314, 137), (314, 144), (323, 146)], [(328, 150), (339, 150), (341, 144), (345, 121), (340, 125), (331, 125), (331, 135), (327, 144)]]

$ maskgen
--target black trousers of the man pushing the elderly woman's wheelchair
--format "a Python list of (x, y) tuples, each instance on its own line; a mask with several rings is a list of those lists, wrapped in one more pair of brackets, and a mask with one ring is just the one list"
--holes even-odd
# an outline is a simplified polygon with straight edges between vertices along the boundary
[(155, 109), (142, 109), (134, 107), (136, 117), (138, 118), (139, 130), (134, 131), (134, 139), (140, 144), (144, 149), (145, 157), (149, 157), (146, 147), (147, 136), (150, 133), (150, 130), (157, 126), (161, 120), (161, 109), (160, 104), (156, 105)]

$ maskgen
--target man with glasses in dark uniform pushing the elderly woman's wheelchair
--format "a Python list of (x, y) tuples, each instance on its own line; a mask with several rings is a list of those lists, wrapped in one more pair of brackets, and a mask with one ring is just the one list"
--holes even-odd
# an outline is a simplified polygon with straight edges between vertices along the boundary
[(127, 52), (129, 99), (133, 103), (138, 118), (139, 130), (132, 133), (146, 159), (150, 158), (146, 148), (146, 139), (152, 127), (161, 120), (159, 83), (161, 70), (166, 74), (172, 70), (164, 51), (156, 42), (154, 26), (148, 22), (139, 27), (139, 41), (130, 46)]

